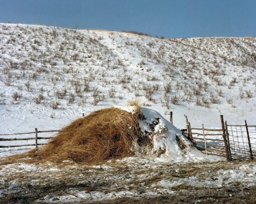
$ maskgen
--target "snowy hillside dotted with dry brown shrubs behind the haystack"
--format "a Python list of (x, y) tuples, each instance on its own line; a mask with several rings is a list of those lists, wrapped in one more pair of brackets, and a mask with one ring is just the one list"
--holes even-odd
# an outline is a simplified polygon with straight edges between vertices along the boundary
[(158, 39), (0, 24), (0, 133), (59, 129), (138, 99), (185, 128), (255, 125), (256, 38)]

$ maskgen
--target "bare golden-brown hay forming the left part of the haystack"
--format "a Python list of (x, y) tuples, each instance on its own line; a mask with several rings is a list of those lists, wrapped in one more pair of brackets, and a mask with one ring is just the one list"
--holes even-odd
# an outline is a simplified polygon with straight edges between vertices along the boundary
[(105, 108), (77, 119), (47, 145), (29, 156), (40, 161), (99, 163), (133, 155), (133, 140), (140, 134), (139, 111)]

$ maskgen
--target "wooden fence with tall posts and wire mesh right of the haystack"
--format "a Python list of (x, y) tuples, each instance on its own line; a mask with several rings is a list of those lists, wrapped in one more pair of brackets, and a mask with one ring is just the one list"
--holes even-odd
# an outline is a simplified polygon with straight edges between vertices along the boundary
[[(227, 161), (232, 159), (254, 158), (256, 154), (256, 126), (227, 125), (221, 115), (222, 128), (207, 129), (191, 128), (191, 124), (185, 115), (187, 122), (187, 137), (194, 143), (198, 150), (205, 154), (226, 156)], [(251, 142), (253, 139), (253, 142)]]

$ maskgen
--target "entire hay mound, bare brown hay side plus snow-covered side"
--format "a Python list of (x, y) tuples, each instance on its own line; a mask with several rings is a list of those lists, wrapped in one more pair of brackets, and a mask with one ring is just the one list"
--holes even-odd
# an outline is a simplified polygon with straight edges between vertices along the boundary
[(41, 162), (102, 163), (130, 156), (182, 161), (200, 154), (157, 111), (134, 105), (104, 108), (79, 118), (25, 156)]

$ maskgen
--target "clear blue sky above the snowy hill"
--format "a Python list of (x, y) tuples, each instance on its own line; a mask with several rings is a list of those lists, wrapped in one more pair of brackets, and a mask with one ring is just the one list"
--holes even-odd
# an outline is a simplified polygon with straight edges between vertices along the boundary
[(0, 22), (165, 38), (256, 36), (256, 0), (0, 0)]

